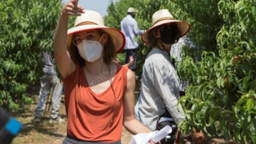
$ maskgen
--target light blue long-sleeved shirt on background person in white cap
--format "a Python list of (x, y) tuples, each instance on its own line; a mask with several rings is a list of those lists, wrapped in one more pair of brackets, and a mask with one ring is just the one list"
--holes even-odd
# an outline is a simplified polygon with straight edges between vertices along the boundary
[(135, 37), (143, 34), (145, 30), (140, 30), (138, 28), (136, 20), (130, 14), (128, 14), (121, 21), (121, 31), (125, 35), (125, 50), (135, 49), (139, 47), (139, 44)]

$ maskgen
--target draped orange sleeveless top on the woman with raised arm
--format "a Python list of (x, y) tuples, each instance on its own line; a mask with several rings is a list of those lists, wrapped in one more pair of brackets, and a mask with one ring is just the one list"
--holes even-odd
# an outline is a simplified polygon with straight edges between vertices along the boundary
[[(111, 86), (103, 93), (94, 93), (85, 77), (84, 70), (76, 64), (76, 70), (63, 79), (65, 87), (65, 107), (67, 114), (67, 135), (84, 141), (117, 142), (121, 139), (123, 125), (123, 94), (127, 86), (128, 67), (117, 65), (117, 72), (113, 80), (116, 95), (114, 122), (106, 130), (113, 116), (114, 93)], [(80, 73), (80, 87), (78, 89), (78, 105), (76, 93)]]

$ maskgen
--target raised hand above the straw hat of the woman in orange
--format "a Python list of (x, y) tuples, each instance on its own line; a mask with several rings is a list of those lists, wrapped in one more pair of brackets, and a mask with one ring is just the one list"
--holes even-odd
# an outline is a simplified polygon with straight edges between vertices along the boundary
[(83, 7), (78, 5), (78, 0), (70, 0), (61, 10), (62, 15), (65, 16), (80, 16), (85, 13)]

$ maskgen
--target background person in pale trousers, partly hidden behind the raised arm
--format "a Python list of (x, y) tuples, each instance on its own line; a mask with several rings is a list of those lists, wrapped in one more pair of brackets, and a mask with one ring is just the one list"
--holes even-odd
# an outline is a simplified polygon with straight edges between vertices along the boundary
[(61, 91), (62, 84), (61, 80), (57, 76), (55, 70), (55, 61), (52, 54), (48, 51), (43, 51), (44, 68), (43, 72), (45, 75), (41, 79), (41, 88), (39, 91), (39, 99), (37, 107), (35, 108), (34, 122), (40, 122), (42, 119), (42, 112), (46, 107), (47, 96), (50, 97), (50, 90), (53, 88), (51, 97), (51, 118), (50, 123), (63, 122), (64, 120), (58, 115), (59, 106), (61, 105)]

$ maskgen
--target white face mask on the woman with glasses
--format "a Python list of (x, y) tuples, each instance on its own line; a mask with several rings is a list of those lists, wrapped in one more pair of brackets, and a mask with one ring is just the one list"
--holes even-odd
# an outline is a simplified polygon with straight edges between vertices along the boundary
[[(101, 39), (99, 42), (100, 41)], [(98, 60), (101, 57), (103, 50), (102, 45), (99, 42), (95, 40), (83, 40), (83, 42), (77, 46), (80, 56), (88, 62)]]

